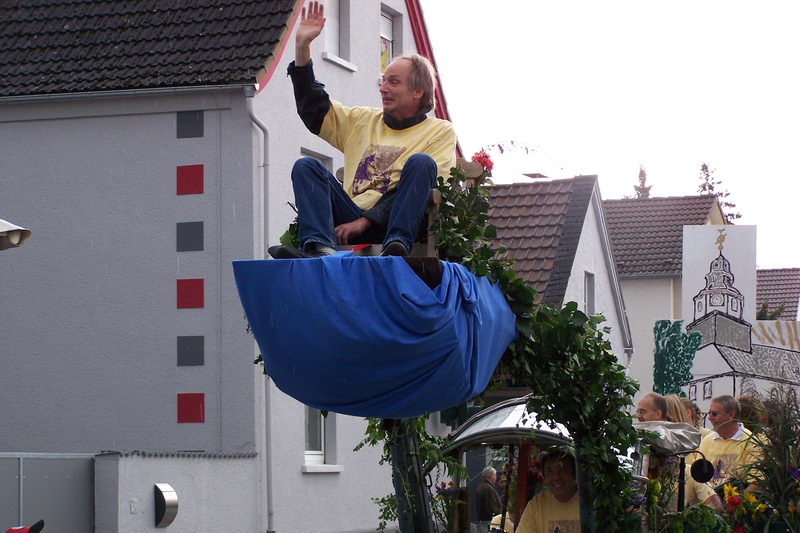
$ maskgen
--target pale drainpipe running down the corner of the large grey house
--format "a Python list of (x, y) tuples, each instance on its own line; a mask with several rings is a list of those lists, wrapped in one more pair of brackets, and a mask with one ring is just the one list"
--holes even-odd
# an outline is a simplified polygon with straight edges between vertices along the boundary
[[(263, 144), (261, 147), (261, 170), (253, 176), (253, 253), (256, 259), (264, 258), (264, 243), (269, 238), (269, 130), (267, 125), (256, 115), (253, 109), (255, 88), (244, 88), (247, 114), (253, 125), (261, 130)], [(258, 346), (255, 347), (258, 351)], [(267, 533), (275, 532), (275, 504), (273, 501), (272, 476), (272, 384), (269, 376), (257, 378), (264, 383), (264, 480), (267, 502)]]

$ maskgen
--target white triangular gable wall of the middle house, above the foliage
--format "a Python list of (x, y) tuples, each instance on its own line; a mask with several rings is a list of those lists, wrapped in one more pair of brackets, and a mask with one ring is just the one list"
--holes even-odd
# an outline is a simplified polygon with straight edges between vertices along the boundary
[(609, 340), (614, 354), (620, 364), (625, 365), (628, 358), (625, 354), (622, 324), (620, 323), (617, 304), (614, 300), (611, 273), (606, 263), (607, 250), (605, 250), (597, 214), (593, 208), (594, 200), (593, 198), (590, 202), (586, 218), (583, 221), (578, 248), (572, 263), (572, 271), (564, 292), (564, 303), (577, 302), (580, 309), (585, 311), (585, 273), (594, 274), (595, 314), (602, 314), (606, 317), (603, 325), (611, 328)]

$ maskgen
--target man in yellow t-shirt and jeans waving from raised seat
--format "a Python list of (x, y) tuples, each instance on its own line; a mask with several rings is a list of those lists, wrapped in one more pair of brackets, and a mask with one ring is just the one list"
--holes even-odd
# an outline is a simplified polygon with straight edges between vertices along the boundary
[(417, 54), (395, 58), (384, 70), (382, 109), (346, 107), (314, 78), (311, 43), (325, 26), (324, 7), (303, 8), (289, 64), (297, 112), (305, 126), (344, 154), (340, 184), (319, 161), (292, 168), (300, 248), (273, 246), (276, 259), (331, 255), (336, 244), (383, 242), (381, 255), (409, 253), (437, 176), (455, 166), (450, 122), (430, 118), (436, 73)]

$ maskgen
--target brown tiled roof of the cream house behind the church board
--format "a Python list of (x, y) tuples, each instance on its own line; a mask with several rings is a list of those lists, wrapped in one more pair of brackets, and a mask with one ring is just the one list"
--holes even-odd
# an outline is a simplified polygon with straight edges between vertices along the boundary
[(715, 202), (712, 195), (605, 200), (619, 276), (680, 276), (683, 226), (706, 224)]

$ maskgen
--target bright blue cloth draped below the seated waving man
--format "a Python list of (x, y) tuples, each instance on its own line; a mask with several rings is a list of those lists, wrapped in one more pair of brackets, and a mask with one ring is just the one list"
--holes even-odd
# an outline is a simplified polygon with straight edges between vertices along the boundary
[(278, 388), (312, 407), (379, 418), (479, 394), (516, 335), (497, 286), (461, 265), (442, 267), (431, 290), (399, 257), (233, 262)]

